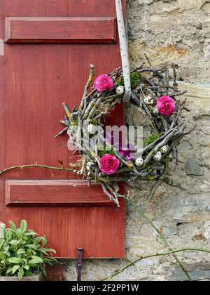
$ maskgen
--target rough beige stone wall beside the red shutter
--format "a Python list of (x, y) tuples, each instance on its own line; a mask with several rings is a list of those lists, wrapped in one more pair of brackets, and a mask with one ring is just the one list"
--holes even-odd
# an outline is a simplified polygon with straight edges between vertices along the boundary
[[(210, 1), (205, 0), (129, 0), (127, 1), (130, 61), (144, 60), (153, 65), (179, 65), (181, 88), (188, 90), (190, 113), (182, 119), (197, 129), (179, 146), (179, 162), (151, 203), (147, 201), (151, 184), (134, 183), (131, 196), (146, 214), (162, 228), (173, 248), (210, 249)], [(191, 83), (191, 84), (190, 84)], [(146, 124), (134, 107), (127, 110), (127, 123)], [(127, 261), (85, 261), (83, 280), (99, 280), (128, 261), (164, 251), (165, 247), (150, 225), (127, 206)], [(179, 258), (193, 278), (210, 280), (210, 254), (183, 252)], [(61, 261), (67, 280), (75, 280), (75, 261)], [(186, 280), (172, 257), (141, 261), (115, 280)]]

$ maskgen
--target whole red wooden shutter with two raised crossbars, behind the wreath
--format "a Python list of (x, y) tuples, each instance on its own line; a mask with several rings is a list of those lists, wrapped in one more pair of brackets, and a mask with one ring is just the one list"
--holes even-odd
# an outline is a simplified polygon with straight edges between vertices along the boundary
[[(114, 1), (0, 0), (0, 169), (21, 164), (68, 166), (67, 136), (55, 140), (62, 102), (78, 105), (89, 64), (97, 74), (120, 65)], [(2, 47), (4, 46), (4, 48)], [(109, 117), (123, 124), (123, 105)], [(125, 256), (125, 204), (73, 173), (14, 170), (0, 177), (0, 220), (48, 237), (57, 257)]]

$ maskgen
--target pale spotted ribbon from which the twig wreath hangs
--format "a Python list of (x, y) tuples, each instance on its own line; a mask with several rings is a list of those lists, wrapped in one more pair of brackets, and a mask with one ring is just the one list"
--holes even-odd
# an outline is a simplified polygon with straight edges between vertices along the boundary
[(131, 91), (130, 84), (130, 65), (129, 65), (129, 56), (127, 48), (127, 35), (125, 32), (125, 22), (123, 17), (123, 7), (121, 0), (116, 0), (116, 12), (118, 18), (118, 32), (120, 37), (120, 52), (123, 65), (123, 77), (125, 83), (125, 92), (128, 93)]

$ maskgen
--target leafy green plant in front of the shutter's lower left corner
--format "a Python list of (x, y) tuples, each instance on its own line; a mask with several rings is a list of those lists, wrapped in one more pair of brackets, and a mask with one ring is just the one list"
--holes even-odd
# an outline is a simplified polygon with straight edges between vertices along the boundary
[(46, 247), (47, 238), (38, 237), (36, 232), (27, 229), (27, 221), (22, 220), (20, 228), (9, 221), (10, 228), (1, 229), (0, 238), (0, 275), (31, 276), (41, 271), (44, 275), (45, 264), (52, 265), (56, 259), (50, 256), (55, 250)]

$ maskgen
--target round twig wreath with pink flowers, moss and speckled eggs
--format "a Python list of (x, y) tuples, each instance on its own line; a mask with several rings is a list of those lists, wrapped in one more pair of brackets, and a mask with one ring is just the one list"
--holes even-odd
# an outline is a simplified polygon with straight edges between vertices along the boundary
[[(154, 133), (144, 140), (141, 150), (133, 145), (113, 143), (113, 134), (104, 137), (106, 116), (116, 105), (123, 102), (125, 88), (123, 70), (118, 68), (102, 74), (94, 80), (94, 65), (90, 65), (90, 76), (80, 106), (69, 110), (63, 103), (66, 117), (60, 122), (65, 128), (55, 138), (67, 131), (69, 144), (80, 150), (81, 157), (73, 172), (87, 178), (88, 185), (100, 183), (104, 193), (119, 206), (118, 182), (156, 179), (149, 199), (165, 178), (170, 159), (177, 161), (177, 149), (186, 125), (179, 123), (179, 115), (186, 108), (186, 100), (177, 99), (186, 91), (179, 91), (176, 82), (176, 67), (172, 66), (174, 83), (169, 84), (167, 67), (154, 69), (143, 65), (132, 70), (130, 103), (140, 107), (151, 120)], [(89, 91), (92, 82), (94, 85)], [(84, 149), (84, 145), (88, 148)], [(137, 154), (134, 154), (137, 152)], [(133, 155), (138, 155), (133, 157)], [(71, 165), (71, 164), (70, 164)]]

